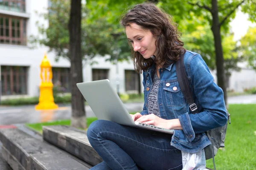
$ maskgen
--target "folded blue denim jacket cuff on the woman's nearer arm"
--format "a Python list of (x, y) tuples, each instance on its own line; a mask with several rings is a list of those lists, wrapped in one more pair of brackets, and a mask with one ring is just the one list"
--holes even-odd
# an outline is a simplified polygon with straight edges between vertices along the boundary
[(192, 142), (195, 139), (195, 132), (191, 125), (189, 113), (186, 112), (178, 116), (178, 119), (180, 120), (180, 125), (183, 129), (183, 132), (185, 133), (186, 138), (189, 140), (189, 142)]

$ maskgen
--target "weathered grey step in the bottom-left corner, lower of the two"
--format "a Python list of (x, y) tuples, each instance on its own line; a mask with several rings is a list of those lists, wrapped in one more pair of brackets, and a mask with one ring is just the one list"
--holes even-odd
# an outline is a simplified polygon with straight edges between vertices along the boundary
[(1, 129), (2, 155), (13, 170), (89, 170), (63, 150), (19, 129)]

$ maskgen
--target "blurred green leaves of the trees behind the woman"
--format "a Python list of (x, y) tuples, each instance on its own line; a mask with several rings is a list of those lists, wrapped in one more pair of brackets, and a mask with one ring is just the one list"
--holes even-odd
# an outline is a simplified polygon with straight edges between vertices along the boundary
[[(215, 46), (212, 35), (212, 0), (155, 0), (156, 5), (163, 8), (177, 23), (178, 31), (182, 32), (182, 40), (185, 48), (196, 51), (202, 55), (207, 65), (215, 69)], [(124, 28), (120, 26), (119, 20), (129, 8), (147, 0), (87, 0), (82, 8), (82, 53), (84, 59), (90, 61), (96, 54), (104, 56), (109, 54), (110, 60), (116, 58), (115, 52), (119, 52), (118, 59), (127, 60), (131, 56)], [(238, 50), (243, 49), (243, 54), (248, 55), (253, 61), (254, 48), (249, 48), (256, 37), (248, 36), (242, 40), (242, 47), (238, 48), (230, 34), (229, 22), (236, 15), (237, 6), (241, 3), (241, 10), (249, 14), (250, 20), (256, 21), (255, 0), (218, 0), (219, 20), (225, 19), (221, 25), (222, 46), (226, 60), (236, 59)], [(49, 46), (51, 51), (57, 52), (58, 57), (67, 57), (69, 49), (68, 20), (70, 11), (69, 0), (51, 0), (49, 13), (41, 14), (44, 19), (49, 20), (49, 27), (38, 25), (40, 34), (44, 38), (30, 37), (30, 42)], [(233, 11), (233, 12), (232, 12)], [(250, 30), (253, 31), (253, 30)], [(114, 39), (113, 34), (119, 34)], [(250, 33), (251, 34), (251, 33)], [(254, 34), (254, 32), (253, 32)], [(40, 36), (41, 37), (41, 36)], [(250, 45), (245, 45), (250, 42)], [(250, 54), (250, 55), (249, 55)], [(254, 55), (255, 56), (255, 55)]]

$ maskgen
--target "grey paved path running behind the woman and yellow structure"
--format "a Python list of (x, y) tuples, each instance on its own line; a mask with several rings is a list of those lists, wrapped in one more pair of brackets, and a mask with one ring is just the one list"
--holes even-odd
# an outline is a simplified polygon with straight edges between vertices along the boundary
[[(256, 95), (233, 96), (228, 98), (229, 104), (256, 104)], [(129, 112), (141, 111), (143, 103), (125, 103)], [(87, 117), (95, 116), (90, 106), (85, 107)], [(70, 105), (59, 105), (58, 110), (35, 111), (34, 105), (4, 107), (0, 106), (0, 125), (19, 123), (49, 122), (59, 119), (70, 119)]]

